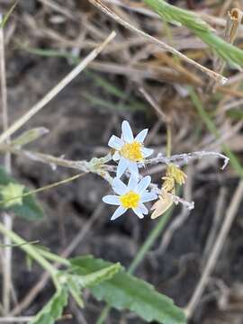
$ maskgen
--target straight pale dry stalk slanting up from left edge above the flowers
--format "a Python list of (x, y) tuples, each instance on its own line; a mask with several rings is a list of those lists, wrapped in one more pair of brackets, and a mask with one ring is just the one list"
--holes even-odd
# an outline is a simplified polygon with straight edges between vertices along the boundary
[(82, 62), (80, 62), (67, 76), (64, 77), (64, 79), (58, 83), (58, 85), (54, 86), (54, 88), (52, 88), (49, 93), (40, 100), (39, 103), (36, 103), (28, 112), (23, 115), (23, 117), (15, 121), (8, 130), (4, 131), (4, 133), (0, 136), (0, 143), (3, 143), (3, 141), (9, 138), (14, 131), (20, 129), (25, 122), (29, 121), (37, 112), (40, 112), (40, 110), (47, 103), (49, 103), (50, 100), (52, 100), (61, 90), (63, 90), (65, 86), (67, 86), (81, 71), (83, 71), (85, 67), (94, 60), (94, 58), (96, 58), (104, 47), (114, 39), (115, 35), (116, 33), (112, 31), (100, 46), (94, 49), (85, 59), (83, 59)]

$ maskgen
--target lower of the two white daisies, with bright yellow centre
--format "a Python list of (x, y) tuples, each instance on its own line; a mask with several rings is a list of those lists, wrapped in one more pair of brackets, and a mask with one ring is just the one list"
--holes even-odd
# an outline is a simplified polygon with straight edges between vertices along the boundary
[(150, 202), (157, 199), (157, 193), (149, 193), (147, 188), (151, 182), (151, 176), (147, 175), (138, 181), (134, 175), (130, 175), (128, 185), (123, 184), (121, 179), (115, 177), (112, 182), (112, 189), (117, 195), (106, 195), (103, 202), (119, 206), (112, 214), (111, 220), (120, 217), (128, 209), (142, 219), (148, 214), (148, 209), (143, 202)]

